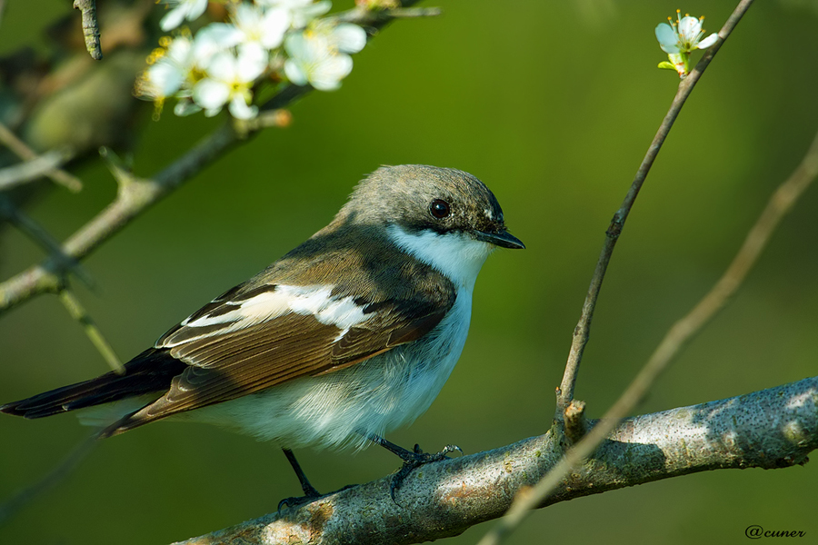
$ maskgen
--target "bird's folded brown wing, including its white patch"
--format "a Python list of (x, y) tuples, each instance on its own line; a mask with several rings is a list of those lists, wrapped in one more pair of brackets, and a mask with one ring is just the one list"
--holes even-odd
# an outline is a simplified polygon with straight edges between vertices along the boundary
[(454, 292), (446, 301), (419, 294), (368, 302), (312, 289), (264, 285), (205, 305), (155, 345), (185, 362), (185, 371), (165, 395), (104, 434), (344, 369), (419, 339), (454, 304)]

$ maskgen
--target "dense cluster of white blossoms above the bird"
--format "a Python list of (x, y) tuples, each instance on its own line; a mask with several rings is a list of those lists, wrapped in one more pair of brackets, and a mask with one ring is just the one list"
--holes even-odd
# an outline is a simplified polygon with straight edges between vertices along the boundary
[[(160, 23), (165, 31), (205, 12), (207, 0), (158, 0), (169, 10)], [(337, 89), (353, 68), (350, 54), (366, 45), (360, 26), (318, 19), (330, 0), (231, 0), (226, 22), (205, 25), (192, 36), (186, 27), (160, 39), (136, 93), (151, 98), (156, 115), (167, 98), (177, 99), (174, 112), (204, 110), (218, 114), (225, 106), (236, 118), (257, 114), (254, 87), (267, 73), (294, 84)], [(274, 78), (275, 79), (275, 78)]]

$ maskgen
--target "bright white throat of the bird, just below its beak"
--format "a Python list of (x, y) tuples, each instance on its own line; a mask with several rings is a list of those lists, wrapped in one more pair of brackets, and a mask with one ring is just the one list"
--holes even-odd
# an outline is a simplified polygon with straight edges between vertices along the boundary
[(392, 224), (386, 228), (389, 239), (404, 252), (443, 272), (454, 282), (457, 291), (474, 288), (477, 273), (494, 250), (489, 243), (475, 240), (466, 233), (435, 233), (431, 230), (408, 233)]

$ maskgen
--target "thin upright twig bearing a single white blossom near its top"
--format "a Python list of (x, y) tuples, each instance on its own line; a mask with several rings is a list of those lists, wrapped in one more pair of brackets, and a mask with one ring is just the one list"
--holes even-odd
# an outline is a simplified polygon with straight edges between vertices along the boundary
[(565, 409), (571, 401), (574, 400), (574, 386), (579, 373), (580, 362), (583, 359), (585, 345), (588, 343), (588, 338), (591, 334), (591, 321), (594, 318), (596, 300), (602, 288), (602, 282), (604, 280), (605, 271), (608, 268), (608, 263), (610, 263), (611, 256), (613, 255), (613, 247), (616, 245), (616, 241), (622, 233), (628, 213), (631, 212), (636, 196), (639, 194), (639, 190), (642, 189), (642, 185), (648, 172), (651, 170), (653, 161), (656, 159), (656, 155), (659, 154), (659, 150), (662, 148), (667, 134), (670, 133), (673, 122), (675, 122), (676, 117), (682, 110), (684, 102), (687, 100), (687, 97), (690, 96), (699, 78), (702, 77), (707, 65), (713, 60), (713, 56), (721, 49), (724, 40), (733, 32), (733, 28), (735, 28), (735, 25), (738, 24), (752, 3), (753, 0), (742, 0), (739, 2), (739, 5), (733, 10), (733, 14), (730, 15), (727, 22), (724, 23), (722, 30), (719, 31), (720, 39), (705, 51), (702, 59), (696, 64), (693, 71), (679, 84), (676, 95), (673, 97), (673, 103), (667, 114), (665, 114), (656, 135), (653, 136), (653, 142), (651, 142), (651, 145), (648, 147), (642, 164), (639, 165), (639, 169), (636, 171), (636, 176), (633, 178), (633, 183), (631, 183), (631, 187), (625, 195), (622, 205), (619, 207), (619, 210), (613, 214), (613, 220), (605, 232), (605, 243), (599, 255), (599, 260), (596, 263), (594, 276), (591, 278), (591, 286), (588, 288), (587, 295), (585, 295), (582, 315), (574, 328), (574, 340), (571, 343), (571, 350), (568, 353), (568, 362), (565, 365), (563, 381), (560, 383), (560, 391), (557, 396), (557, 407), (554, 417), (557, 421), (562, 421), (562, 415)]

